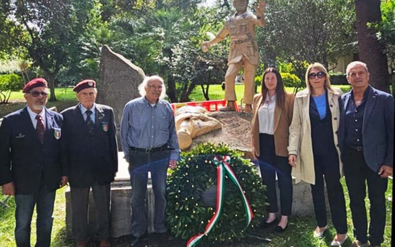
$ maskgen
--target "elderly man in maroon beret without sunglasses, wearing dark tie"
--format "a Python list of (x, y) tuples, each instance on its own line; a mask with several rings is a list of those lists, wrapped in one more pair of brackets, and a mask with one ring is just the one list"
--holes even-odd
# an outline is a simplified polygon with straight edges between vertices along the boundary
[[(72, 234), (77, 247), (85, 247), (91, 237), (100, 247), (109, 247), (110, 183), (118, 171), (114, 111), (95, 103), (95, 81), (79, 82), (74, 91), (79, 103), (62, 112), (62, 163), (70, 170)], [(94, 236), (88, 234), (90, 188), (97, 215)]]

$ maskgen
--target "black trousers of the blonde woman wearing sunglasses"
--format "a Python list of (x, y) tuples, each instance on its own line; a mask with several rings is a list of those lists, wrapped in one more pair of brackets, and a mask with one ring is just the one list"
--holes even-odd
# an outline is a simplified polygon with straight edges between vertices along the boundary
[(336, 149), (333, 148), (332, 151), (325, 154), (314, 154), (314, 170), (316, 184), (312, 184), (311, 189), (318, 227), (324, 227), (328, 223), (324, 194), (325, 179), (332, 223), (338, 234), (347, 233), (346, 202), (343, 187), (340, 183), (339, 157)]

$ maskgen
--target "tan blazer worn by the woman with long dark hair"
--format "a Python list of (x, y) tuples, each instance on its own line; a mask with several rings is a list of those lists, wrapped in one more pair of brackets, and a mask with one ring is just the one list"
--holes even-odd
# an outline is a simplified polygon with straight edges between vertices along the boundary
[[(288, 157), (288, 128), (292, 121), (293, 101), (295, 96), (292, 93), (285, 94), (284, 109), (281, 109), (277, 104), (275, 107), (274, 116), (274, 138), (276, 156)], [(258, 109), (262, 105), (262, 93), (255, 94), (252, 115), (252, 146), (255, 149), (255, 155), (259, 157), (259, 123), (258, 123)]]

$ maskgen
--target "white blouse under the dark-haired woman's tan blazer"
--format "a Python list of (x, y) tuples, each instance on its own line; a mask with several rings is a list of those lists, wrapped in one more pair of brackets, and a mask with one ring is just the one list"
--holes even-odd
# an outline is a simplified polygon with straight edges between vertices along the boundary
[(259, 133), (274, 134), (274, 118), (276, 108), (276, 94), (269, 98), (266, 93), (265, 102), (258, 109)]

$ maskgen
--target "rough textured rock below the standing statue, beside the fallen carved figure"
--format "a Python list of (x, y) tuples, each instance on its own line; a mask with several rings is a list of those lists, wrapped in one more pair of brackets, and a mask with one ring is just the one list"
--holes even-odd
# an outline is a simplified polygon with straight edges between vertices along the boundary
[(212, 112), (208, 116), (219, 120), (222, 128), (196, 137), (189, 149), (200, 143), (211, 142), (224, 143), (245, 153), (251, 152), (252, 113)]

